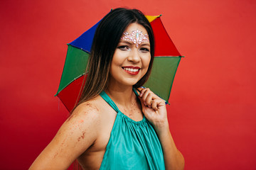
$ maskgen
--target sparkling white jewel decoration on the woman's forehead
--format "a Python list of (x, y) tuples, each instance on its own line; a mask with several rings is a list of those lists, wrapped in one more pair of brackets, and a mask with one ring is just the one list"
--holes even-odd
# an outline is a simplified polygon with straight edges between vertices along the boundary
[(142, 31), (140, 30), (132, 30), (131, 35), (129, 35), (128, 32), (124, 33), (124, 36), (122, 36), (121, 40), (127, 40), (130, 42), (133, 42), (136, 44), (136, 47), (139, 46), (142, 42), (149, 42), (149, 35), (145, 34), (143, 35)]

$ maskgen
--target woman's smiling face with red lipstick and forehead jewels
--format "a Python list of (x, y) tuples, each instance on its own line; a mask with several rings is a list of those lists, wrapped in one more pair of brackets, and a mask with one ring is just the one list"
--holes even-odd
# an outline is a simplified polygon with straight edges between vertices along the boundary
[(110, 84), (136, 84), (146, 74), (150, 60), (150, 43), (146, 29), (138, 23), (131, 23), (114, 51), (110, 66)]

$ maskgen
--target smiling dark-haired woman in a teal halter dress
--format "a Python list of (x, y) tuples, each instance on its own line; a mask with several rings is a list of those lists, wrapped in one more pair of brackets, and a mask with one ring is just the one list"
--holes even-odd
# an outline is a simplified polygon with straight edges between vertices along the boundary
[(164, 100), (142, 89), (154, 60), (154, 35), (136, 9), (100, 22), (80, 103), (30, 169), (183, 169)]

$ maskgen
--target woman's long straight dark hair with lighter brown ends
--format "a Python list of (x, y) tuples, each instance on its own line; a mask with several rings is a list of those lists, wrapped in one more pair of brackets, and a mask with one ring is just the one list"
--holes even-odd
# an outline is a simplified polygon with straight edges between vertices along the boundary
[(95, 98), (107, 89), (110, 78), (110, 64), (124, 30), (130, 23), (142, 25), (148, 35), (150, 42), (151, 60), (149, 69), (134, 88), (142, 86), (149, 78), (154, 60), (154, 35), (149, 21), (144, 14), (137, 9), (116, 8), (105, 16), (95, 31), (92, 49), (87, 65), (87, 79), (80, 96), (80, 103)]

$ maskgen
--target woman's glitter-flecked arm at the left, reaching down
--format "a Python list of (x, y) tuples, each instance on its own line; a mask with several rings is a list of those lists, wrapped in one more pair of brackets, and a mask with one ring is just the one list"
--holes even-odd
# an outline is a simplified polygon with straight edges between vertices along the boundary
[(99, 111), (92, 103), (80, 104), (30, 169), (68, 169), (95, 142), (99, 118)]

